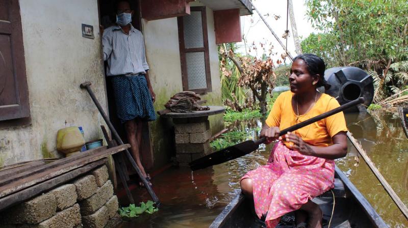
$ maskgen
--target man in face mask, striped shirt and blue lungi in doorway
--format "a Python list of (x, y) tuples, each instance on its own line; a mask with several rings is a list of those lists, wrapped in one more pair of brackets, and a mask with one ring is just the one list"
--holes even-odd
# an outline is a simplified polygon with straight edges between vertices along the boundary
[(116, 24), (103, 32), (104, 61), (107, 76), (112, 77), (117, 116), (125, 126), (132, 156), (149, 182), (140, 161), (142, 122), (156, 120), (156, 95), (149, 80), (143, 35), (131, 24), (133, 14), (129, 2), (118, 2)]

